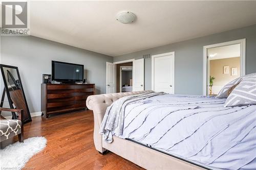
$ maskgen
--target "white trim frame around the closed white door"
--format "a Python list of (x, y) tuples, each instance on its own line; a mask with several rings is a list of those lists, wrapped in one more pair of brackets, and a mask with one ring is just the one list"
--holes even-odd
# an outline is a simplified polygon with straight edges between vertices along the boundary
[(152, 64), (151, 64), (151, 89), (155, 91), (155, 83), (154, 83), (154, 70), (155, 70), (155, 60), (154, 58), (156, 57), (164, 57), (164, 56), (169, 56), (173, 55), (174, 56), (174, 64), (173, 64), (173, 78), (174, 78), (174, 83), (173, 83), (173, 88), (174, 88), (174, 93), (175, 93), (175, 52), (169, 52), (169, 53), (162, 53), (162, 54), (156, 54), (152, 55)]

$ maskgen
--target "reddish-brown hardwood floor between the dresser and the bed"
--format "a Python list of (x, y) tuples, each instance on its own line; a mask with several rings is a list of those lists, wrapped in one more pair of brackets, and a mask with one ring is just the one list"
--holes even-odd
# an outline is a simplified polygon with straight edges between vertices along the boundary
[(45, 136), (47, 147), (33, 156), (25, 169), (142, 169), (111, 152), (100, 155), (94, 148), (93, 126), (90, 110), (52, 115), (49, 119), (32, 117), (24, 127), (24, 138)]

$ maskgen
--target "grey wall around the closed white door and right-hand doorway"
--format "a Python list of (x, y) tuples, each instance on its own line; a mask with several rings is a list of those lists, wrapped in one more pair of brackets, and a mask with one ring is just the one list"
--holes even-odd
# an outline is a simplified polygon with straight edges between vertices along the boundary
[[(246, 74), (250, 74), (256, 72), (256, 25), (117, 56), (114, 62), (175, 52), (175, 93), (203, 94), (203, 46), (242, 38), (246, 38)], [(145, 90), (149, 89), (151, 58), (145, 59)]]

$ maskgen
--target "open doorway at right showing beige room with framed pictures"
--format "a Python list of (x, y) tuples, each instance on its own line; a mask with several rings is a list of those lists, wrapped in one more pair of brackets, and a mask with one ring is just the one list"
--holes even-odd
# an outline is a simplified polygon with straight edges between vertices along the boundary
[(213, 44), (205, 49), (206, 95), (217, 95), (228, 82), (245, 75), (245, 41), (238, 41)]

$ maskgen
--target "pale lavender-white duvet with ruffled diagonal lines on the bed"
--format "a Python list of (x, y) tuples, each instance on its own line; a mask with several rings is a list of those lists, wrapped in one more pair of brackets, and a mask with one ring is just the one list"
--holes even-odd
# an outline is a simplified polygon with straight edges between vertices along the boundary
[(256, 169), (256, 106), (165, 94), (126, 105), (121, 138), (212, 169)]

